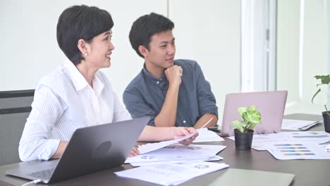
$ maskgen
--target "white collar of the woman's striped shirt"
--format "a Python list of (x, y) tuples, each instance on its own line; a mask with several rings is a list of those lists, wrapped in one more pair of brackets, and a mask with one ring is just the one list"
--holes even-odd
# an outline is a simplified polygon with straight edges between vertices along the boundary
[[(73, 85), (75, 86), (76, 91), (80, 91), (85, 87), (89, 86), (85, 77), (79, 72), (78, 68), (70, 60), (67, 59), (64, 62), (64, 66), (66, 67), (66, 69), (68, 69), (68, 74), (71, 77), (71, 80), (73, 82)], [(104, 84), (99, 79), (97, 74), (95, 74), (93, 78), (93, 89), (95, 94), (99, 96), (103, 88), (104, 88)]]

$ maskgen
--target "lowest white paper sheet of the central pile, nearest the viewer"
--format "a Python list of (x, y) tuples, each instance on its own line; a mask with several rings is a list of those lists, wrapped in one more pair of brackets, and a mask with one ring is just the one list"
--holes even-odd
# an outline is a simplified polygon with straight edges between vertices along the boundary
[(197, 176), (212, 173), (227, 167), (228, 165), (225, 163), (188, 161), (157, 166), (142, 166), (116, 172), (115, 174), (125, 178), (144, 180), (160, 185), (178, 185)]

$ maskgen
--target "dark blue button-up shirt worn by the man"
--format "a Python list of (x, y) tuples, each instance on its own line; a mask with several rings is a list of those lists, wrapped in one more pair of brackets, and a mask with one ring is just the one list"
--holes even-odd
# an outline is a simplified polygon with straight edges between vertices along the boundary
[[(211, 86), (204, 79), (202, 69), (197, 62), (178, 59), (174, 64), (183, 68), (178, 92), (176, 126), (193, 127), (204, 113), (218, 116)], [(161, 111), (168, 87), (169, 81), (165, 74), (158, 79), (148, 73), (144, 66), (123, 93), (126, 109), (133, 118), (150, 116), (148, 125), (154, 126), (154, 118)]]

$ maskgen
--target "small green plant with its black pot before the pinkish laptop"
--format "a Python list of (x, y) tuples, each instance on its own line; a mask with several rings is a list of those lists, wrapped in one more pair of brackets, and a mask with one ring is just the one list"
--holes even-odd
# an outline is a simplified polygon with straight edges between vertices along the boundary
[(257, 106), (239, 107), (237, 109), (243, 120), (233, 120), (231, 126), (235, 128), (235, 145), (238, 150), (251, 149), (253, 139), (253, 129), (255, 125), (261, 123), (261, 113), (257, 111)]

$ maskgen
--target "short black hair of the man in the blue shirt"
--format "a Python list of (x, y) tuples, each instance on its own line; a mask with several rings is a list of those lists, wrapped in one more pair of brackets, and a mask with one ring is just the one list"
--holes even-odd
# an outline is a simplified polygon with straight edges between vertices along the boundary
[(139, 56), (139, 46), (145, 46), (149, 50), (149, 43), (153, 35), (167, 30), (173, 30), (174, 23), (164, 16), (157, 13), (141, 16), (133, 23), (130, 28), (130, 44)]

